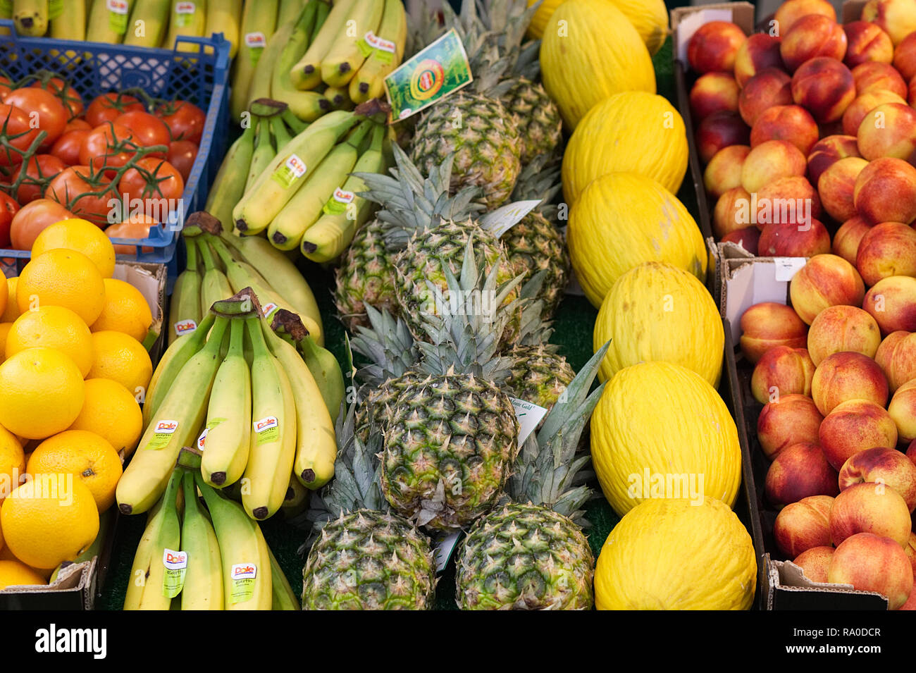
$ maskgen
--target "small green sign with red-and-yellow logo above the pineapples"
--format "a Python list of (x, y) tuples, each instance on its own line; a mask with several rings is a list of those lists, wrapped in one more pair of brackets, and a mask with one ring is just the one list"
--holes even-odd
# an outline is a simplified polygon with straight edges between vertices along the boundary
[(393, 119), (417, 114), (474, 80), (454, 28), (385, 78)]

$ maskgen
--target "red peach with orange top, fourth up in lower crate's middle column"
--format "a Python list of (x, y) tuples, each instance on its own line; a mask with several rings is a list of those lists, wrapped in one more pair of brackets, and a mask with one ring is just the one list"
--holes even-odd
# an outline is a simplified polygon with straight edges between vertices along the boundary
[(859, 451), (897, 446), (897, 426), (884, 407), (864, 399), (851, 399), (834, 407), (823, 418), (818, 441), (827, 462), (839, 470)]

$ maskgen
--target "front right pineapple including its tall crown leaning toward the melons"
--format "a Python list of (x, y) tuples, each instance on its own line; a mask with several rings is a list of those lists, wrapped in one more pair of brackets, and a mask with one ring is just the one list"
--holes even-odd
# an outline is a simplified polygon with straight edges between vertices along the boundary
[(456, 557), (455, 601), (463, 610), (587, 610), (594, 603), (594, 556), (581, 505), (592, 495), (573, 485), (589, 461), (576, 456), (604, 385), (588, 395), (607, 346), (570, 385), (540, 432), (529, 435), (508, 483), (514, 502), (479, 519)]

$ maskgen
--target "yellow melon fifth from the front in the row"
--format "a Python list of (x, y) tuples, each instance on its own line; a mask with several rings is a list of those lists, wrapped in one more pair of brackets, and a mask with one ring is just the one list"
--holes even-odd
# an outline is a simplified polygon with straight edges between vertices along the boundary
[(608, 173), (638, 173), (676, 194), (688, 156), (683, 118), (666, 98), (617, 93), (589, 110), (570, 137), (563, 154), (563, 197), (572, 205)]

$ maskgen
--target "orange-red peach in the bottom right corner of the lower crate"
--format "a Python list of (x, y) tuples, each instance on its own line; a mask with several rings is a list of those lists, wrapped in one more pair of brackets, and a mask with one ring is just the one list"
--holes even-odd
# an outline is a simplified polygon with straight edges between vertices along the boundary
[(859, 592), (876, 592), (888, 599), (888, 609), (897, 610), (913, 589), (910, 560), (894, 540), (858, 533), (837, 545), (827, 568), (831, 584), (850, 584)]

